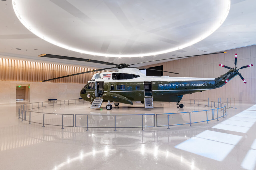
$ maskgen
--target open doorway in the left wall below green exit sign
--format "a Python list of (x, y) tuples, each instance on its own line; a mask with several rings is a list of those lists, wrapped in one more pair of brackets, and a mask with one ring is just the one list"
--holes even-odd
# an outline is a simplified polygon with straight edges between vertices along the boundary
[(16, 85), (16, 102), (29, 101), (29, 85)]

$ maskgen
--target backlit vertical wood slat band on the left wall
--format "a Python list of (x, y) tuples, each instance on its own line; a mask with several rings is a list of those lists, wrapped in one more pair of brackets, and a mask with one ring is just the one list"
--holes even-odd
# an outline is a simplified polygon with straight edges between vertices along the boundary
[[(91, 70), (94, 69), (0, 58), (0, 80), (3, 81), (40, 82)], [(100, 72), (106, 71), (80, 74), (49, 82), (85, 84), (91, 80), (93, 74)]]

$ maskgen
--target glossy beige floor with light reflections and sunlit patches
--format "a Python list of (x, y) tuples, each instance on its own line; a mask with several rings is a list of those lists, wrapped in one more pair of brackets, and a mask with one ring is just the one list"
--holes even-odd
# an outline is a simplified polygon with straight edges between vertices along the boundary
[[(225, 119), (209, 121), (209, 124), (170, 126), (170, 129), (152, 127), (144, 131), (141, 128), (117, 128), (117, 131), (89, 128), (86, 131), (81, 127), (61, 129), (60, 126), (28, 124), (18, 119), (17, 108), (21, 104), (24, 103), (0, 104), (0, 169), (255, 169), (255, 103), (236, 103), (238, 109), (228, 109)], [(61, 114), (155, 114), (205, 109), (196, 104), (176, 108), (173, 103), (154, 103), (154, 109), (145, 109), (139, 103), (133, 107), (120, 104), (111, 111), (104, 106), (90, 110), (87, 103), (80, 103), (33, 110)], [(188, 115), (181, 114), (170, 116), (170, 122), (172, 118), (175, 122), (187, 121)], [(31, 119), (39, 121), (41, 116), (34, 114)], [(98, 116), (90, 124), (110, 125), (107, 119)], [(136, 119), (124, 116), (117, 122), (139, 126)], [(61, 119), (48, 117), (46, 120), (58, 123)]]

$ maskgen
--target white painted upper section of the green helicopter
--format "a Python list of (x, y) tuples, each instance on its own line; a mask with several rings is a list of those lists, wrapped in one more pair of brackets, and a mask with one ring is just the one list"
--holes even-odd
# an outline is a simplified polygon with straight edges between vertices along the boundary
[[(128, 74), (135, 74), (139, 75), (140, 77), (129, 79), (129, 80), (112, 80), (112, 76), (110, 78), (102, 78), (103, 74), (112, 74), (112, 73), (128, 73)], [(99, 74), (99, 73), (97, 73)], [(96, 74), (93, 75), (92, 79), (95, 79)], [(98, 77), (98, 76), (97, 76)], [(215, 80), (215, 78), (200, 78), (200, 77), (169, 77), (169, 76), (146, 76), (143, 74), (139, 69), (136, 68), (125, 68), (125, 69), (118, 69), (117, 72), (104, 72), (100, 73), (100, 79), (95, 79), (96, 81), (118, 81), (118, 82), (140, 82), (140, 81), (188, 81), (188, 80)]]

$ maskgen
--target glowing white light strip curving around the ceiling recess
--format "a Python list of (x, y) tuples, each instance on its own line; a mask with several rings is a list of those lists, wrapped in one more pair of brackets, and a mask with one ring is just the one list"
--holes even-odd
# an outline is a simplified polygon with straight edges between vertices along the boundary
[[(16, 1), (16, 2), (15, 2)], [(54, 44), (54, 45), (57, 45), (59, 47), (62, 47), (62, 48), (65, 48), (65, 49), (68, 49), (68, 50), (71, 50), (71, 51), (75, 51), (75, 52), (78, 52), (78, 53), (82, 53), (82, 54), (89, 54), (89, 55), (93, 55), (93, 56), (103, 56), (103, 57), (144, 57), (144, 56), (155, 56), (155, 55), (159, 55), (159, 54), (164, 54), (164, 53), (169, 53), (169, 52), (172, 52), (172, 51), (176, 51), (176, 50), (179, 50), (179, 49), (183, 49), (185, 47), (188, 47), (188, 46), (191, 46), (195, 43), (198, 43), (199, 41), (201, 40), (204, 40), (206, 37), (208, 37), (209, 35), (211, 35), (213, 32), (215, 32), (221, 25), (222, 23), (226, 20), (227, 16), (228, 16), (228, 13), (229, 13), (229, 9), (230, 9), (230, 0), (227, 0), (228, 1), (228, 8), (225, 9), (226, 12), (225, 12), (225, 15), (222, 17), (221, 21), (218, 21), (215, 23), (214, 27), (208, 31), (206, 31), (206, 33), (202, 34), (201, 36), (199, 36), (198, 38), (186, 43), (186, 44), (183, 44), (183, 45), (180, 45), (178, 47), (175, 47), (175, 48), (170, 48), (170, 49), (166, 49), (166, 50), (163, 50), (163, 51), (157, 51), (157, 52), (154, 52), (154, 53), (145, 53), (145, 54), (132, 54), (132, 55), (117, 55), (117, 54), (103, 54), (103, 53), (94, 53), (94, 52), (91, 52), (91, 51), (86, 51), (86, 50), (81, 50), (81, 49), (77, 49), (77, 48), (72, 48), (72, 47), (69, 47), (65, 44), (62, 44), (60, 42), (56, 42), (55, 40), (52, 40), (51, 38), (47, 37), (47, 36), (44, 36), (43, 34), (41, 34), (39, 31), (35, 30), (34, 28), (31, 27), (31, 25), (28, 25), (26, 23), (26, 19), (23, 18), (23, 16), (20, 16), (19, 15), (19, 12), (17, 11), (16, 9), (16, 6), (17, 6), (17, 0), (12, 0), (12, 3), (13, 3), (13, 9), (14, 9), (14, 12), (16, 14), (16, 16), (18, 17), (19, 21), (29, 30), (31, 31), (33, 34), (35, 34), (36, 36), (38, 36), (39, 38), (42, 38), (43, 40), (51, 43), (51, 44)]]

